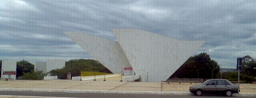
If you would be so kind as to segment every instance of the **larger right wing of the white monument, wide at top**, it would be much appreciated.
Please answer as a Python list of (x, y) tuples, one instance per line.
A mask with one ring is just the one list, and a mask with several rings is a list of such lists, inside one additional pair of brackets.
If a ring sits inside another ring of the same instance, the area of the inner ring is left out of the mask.
[(113, 29), (141, 81), (167, 80), (205, 41), (182, 41), (137, 29)]

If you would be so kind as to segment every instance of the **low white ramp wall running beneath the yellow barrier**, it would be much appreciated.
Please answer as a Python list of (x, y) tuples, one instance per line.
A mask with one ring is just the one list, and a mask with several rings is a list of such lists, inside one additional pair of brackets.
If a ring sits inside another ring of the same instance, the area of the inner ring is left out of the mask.
[[(105, 78), (120, 76), (120, 74), (105, 75)], [(95, 79), (104, 78), (104, 75), (97, 75)], [(72, 80), (80, 80), (81, 76), (72, 76)], [(93, 80), (94, 76), (82, 76), (82, 80)]]

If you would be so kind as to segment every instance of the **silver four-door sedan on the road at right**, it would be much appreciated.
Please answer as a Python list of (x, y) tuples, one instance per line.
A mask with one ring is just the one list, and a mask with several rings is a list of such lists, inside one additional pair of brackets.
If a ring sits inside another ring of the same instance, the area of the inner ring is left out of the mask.
[(238, 93), (238, 88), (238, 85), (226, 79), (209, 79), (200, 85), (190, 86), (189, 91), (198, 96), (203, 94), (223, 94), (232, 96), (233, 93)]

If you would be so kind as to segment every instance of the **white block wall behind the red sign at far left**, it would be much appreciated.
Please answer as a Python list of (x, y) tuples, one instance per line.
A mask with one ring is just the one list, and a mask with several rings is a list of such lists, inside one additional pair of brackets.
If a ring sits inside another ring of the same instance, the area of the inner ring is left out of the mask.
[(16, 79), (16, 66), (17, 61), (16, 60), (2, 60), (2, 72), (4, 71), (12, 71), (15, 72), (15, 75), (1, 75), (1, 78), (13, 78)]

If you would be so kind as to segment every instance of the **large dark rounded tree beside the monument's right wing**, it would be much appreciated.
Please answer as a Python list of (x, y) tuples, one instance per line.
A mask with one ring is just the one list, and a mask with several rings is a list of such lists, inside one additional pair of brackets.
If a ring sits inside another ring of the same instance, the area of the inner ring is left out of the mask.
[(211, 60), (209, 54), (200, 53), (193, 57), (189, 57), (189, 59), (184, 64), (182, 64), (181, 67), (176, 72), (174, 72), (170, 78), (211, 79), (212, 70), (213, 78), (216, 78), (219, 73), (219, 69), (220, 67), (218, 63), (214, 60)]

